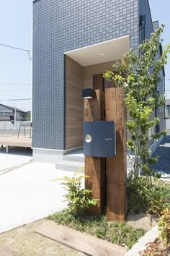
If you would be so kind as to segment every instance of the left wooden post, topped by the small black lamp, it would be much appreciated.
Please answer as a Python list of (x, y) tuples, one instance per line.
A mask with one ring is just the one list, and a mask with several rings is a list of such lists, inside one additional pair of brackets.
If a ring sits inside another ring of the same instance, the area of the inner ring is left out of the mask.
[[(104, 93), (96, 91), (96, 98), (84, 100), (84, 121), (104, 120)], [(105, 158), (85, 156), (85, 188), (92, 190), (93, 198), (98, 200), (97, 206), (87, 210), (91, 215), (100, 215), (105, 203)]]

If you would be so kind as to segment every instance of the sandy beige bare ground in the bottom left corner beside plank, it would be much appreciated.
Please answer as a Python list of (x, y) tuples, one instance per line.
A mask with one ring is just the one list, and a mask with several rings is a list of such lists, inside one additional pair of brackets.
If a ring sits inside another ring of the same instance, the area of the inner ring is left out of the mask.
[(44, 220), (22, 226), (12, 231), (0, 234), (0, 246), (10, 249), (19, 256), (79, 256), (76, 252), (50, 239), (34, 233), (35, 228)]

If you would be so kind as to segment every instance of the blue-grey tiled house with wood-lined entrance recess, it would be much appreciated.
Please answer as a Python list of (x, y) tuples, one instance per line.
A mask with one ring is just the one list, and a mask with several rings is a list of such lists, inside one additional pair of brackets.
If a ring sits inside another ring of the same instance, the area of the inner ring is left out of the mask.
[[(82, 146), (82, 88), (112, 87), (102, 73), (150, 38), (157, 26), (148, 0), (33, 1), (35, 160), (56, 162), (58, 155)], [(164, 78), (164, 70), (160, 76)], [(158, 85), (162, 92), (164, 79)], [(151, 133), (164, 129), (164, 111), (157, 109), (155, 116), (161, 122)]]

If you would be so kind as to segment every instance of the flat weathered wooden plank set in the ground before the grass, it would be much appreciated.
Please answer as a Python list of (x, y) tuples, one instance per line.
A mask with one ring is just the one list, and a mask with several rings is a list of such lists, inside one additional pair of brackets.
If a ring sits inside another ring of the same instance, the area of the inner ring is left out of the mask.
[(91, 256), (122, 256), (127, 252), (126, 247), (69, 229), (53, 221), (46, 221), (35, 229), (35, 233)]

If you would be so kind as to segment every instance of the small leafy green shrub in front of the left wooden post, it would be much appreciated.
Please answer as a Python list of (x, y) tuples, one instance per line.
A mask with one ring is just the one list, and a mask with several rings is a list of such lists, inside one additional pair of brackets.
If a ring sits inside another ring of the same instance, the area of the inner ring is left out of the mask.
[(97, 199), (93, 199), (91, 196), (91, 190), (81, 188), (81, 180), (88, 178), (88, 176), (79, 175), (79, 171), (73, 175), (73, 177), (63, 176), (62, 179), (54, 179), (63, 181), (61, 184), (68, 192), (64, 197), (68, 201), (69, 213), (80, 214), (91, 205), (97, 205)]

